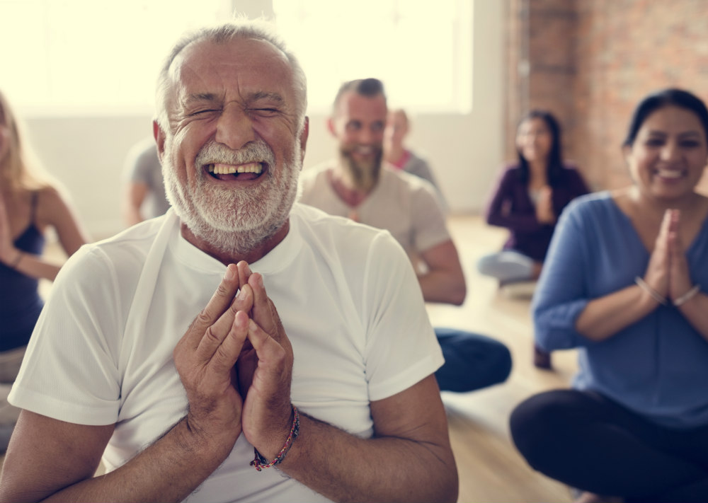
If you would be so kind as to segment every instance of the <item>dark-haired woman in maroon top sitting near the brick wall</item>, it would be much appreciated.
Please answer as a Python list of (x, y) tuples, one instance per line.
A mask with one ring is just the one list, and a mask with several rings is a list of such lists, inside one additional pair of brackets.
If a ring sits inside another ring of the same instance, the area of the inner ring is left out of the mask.
[[(580, 173), (563, 161), (561, 129), (545, 110), (532, 110), (516, 133), (518, 163), (507, 166), (487, 209), (487, 224), (506, 227), (503, 250), (482, 257), (481, 274), (500, 285), (539, 277), (556, 221), (566, 204), (587, 194)], [(536, 349), (536, 366), (550, 368), (550, 355)]]

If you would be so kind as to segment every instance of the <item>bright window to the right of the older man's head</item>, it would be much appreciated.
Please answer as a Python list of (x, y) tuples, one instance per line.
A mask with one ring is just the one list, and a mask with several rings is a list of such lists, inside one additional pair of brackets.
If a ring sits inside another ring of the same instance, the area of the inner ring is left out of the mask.
[(344, 81), (376, 77), (392, 105), (468, 112), (472, 0), (273, 0), (278, 31), (297, 54), (309, 108), (329, 110)]

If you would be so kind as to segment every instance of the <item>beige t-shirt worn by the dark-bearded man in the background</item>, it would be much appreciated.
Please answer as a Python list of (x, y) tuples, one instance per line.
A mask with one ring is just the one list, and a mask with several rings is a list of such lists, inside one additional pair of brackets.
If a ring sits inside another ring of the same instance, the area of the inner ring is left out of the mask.
[[(352, 211), (332, 188), (327, 175), (333, 162), (304, 170), (300, 175), (300, 202), (331, 215)], [(358, 221), (387, 229), (411, 258), (450, 239), (445, 211), (428, 180), (382, 166), (379, 181), (356, 207)]]

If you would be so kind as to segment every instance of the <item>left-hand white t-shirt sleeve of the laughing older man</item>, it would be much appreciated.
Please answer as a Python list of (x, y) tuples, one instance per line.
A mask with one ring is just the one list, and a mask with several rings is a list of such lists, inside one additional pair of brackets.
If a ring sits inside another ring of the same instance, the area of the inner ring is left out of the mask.
[(76, 424), (115, 423), (122, 333), (116, 284), (100, 250), (84, 247), (72, 255), (35, 325), (9, 395), (12, 405)]

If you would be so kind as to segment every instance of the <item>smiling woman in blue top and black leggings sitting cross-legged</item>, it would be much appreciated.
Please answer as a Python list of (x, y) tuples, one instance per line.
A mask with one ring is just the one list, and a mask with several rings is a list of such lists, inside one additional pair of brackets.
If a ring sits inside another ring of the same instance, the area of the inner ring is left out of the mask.
[(532, 313), (537, 344), (577, 347), (573, 389), (532, 396), (510, 426), (530, 465), (625, 501), (708, 501), (708, 110), (666, 89), (624, 141), (634, 185), (561, 216)]

